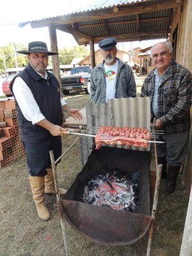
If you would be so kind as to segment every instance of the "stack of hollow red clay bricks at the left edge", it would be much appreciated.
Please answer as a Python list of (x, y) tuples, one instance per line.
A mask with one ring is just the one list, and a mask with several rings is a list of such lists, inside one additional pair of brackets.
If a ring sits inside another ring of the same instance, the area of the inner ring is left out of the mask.
[(0, 101), (0, 168), (24, 154), (15, 100)]

